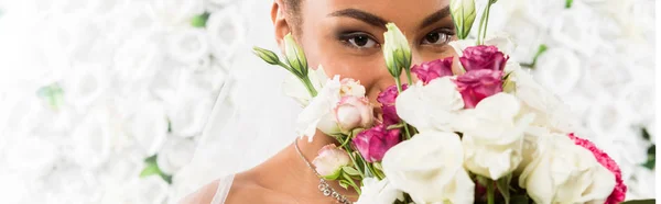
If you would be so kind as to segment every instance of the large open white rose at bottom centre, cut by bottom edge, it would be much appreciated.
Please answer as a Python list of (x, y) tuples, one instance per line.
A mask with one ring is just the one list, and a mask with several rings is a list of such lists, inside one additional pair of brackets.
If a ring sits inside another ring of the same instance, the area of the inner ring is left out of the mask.
[(392, 186), (415, 203), (473, 203), (475, 184), (454, 133), (422, 132), (388, 150), (382, 166)]

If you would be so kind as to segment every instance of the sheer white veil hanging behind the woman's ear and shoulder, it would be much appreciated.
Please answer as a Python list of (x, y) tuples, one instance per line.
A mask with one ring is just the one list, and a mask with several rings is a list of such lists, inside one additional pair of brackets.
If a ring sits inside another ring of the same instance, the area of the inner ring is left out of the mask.
[(291, 73), (252, 54), (252, 46), (280, 53), (269, 16), (271, 4), (252, 2), (241, 8), (245, 43), (234, 50), (229, 72), (193, 159), (174, 178), (175, 183), (185, 183), (178, 188), (182, 193), (259, 165), (296, 137), (294, 120), (301, 107), (281, 91)]

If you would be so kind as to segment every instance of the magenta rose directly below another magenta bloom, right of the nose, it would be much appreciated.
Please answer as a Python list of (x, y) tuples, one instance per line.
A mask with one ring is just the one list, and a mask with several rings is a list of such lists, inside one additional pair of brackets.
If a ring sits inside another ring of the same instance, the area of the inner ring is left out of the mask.
[(502, 92), (502, 71), (479, 69), (468, 71), (454, 81), (464, 99), (464, 107), (473, 109), (483, 99)]

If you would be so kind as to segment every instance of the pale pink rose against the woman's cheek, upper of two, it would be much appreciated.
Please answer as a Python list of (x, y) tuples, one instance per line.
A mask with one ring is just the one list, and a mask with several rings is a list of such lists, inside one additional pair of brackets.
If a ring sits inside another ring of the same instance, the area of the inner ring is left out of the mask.
[(365, 97), (344, 97), (334, 110), (340, 131), (348, 133), (355, 128), (367, 128), (373, 122), (373, 109)]

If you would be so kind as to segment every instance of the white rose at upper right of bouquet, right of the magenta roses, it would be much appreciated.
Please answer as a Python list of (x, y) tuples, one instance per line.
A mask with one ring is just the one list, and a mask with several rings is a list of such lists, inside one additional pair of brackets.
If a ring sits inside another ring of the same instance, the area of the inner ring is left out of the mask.
[(520, 67), (513, 67), (506, 83), (513, 83), (513, 89), (506, 91), (521, 101), (521, 109), (535, 114), (533, 125), (550, 127), (555, 133), (574, 132), (576, 125), (572, 121), (574, 117), (571, 116), (570, 109), (537, 83), (530, 73)]

